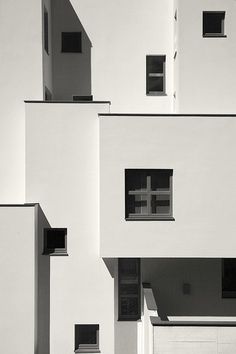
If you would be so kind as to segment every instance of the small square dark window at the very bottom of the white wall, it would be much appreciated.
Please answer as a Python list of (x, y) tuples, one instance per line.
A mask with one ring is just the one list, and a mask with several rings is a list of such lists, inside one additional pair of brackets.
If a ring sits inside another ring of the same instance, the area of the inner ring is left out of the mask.
[(75, 325), (75, 353), (100, 353), (99, 325)]

